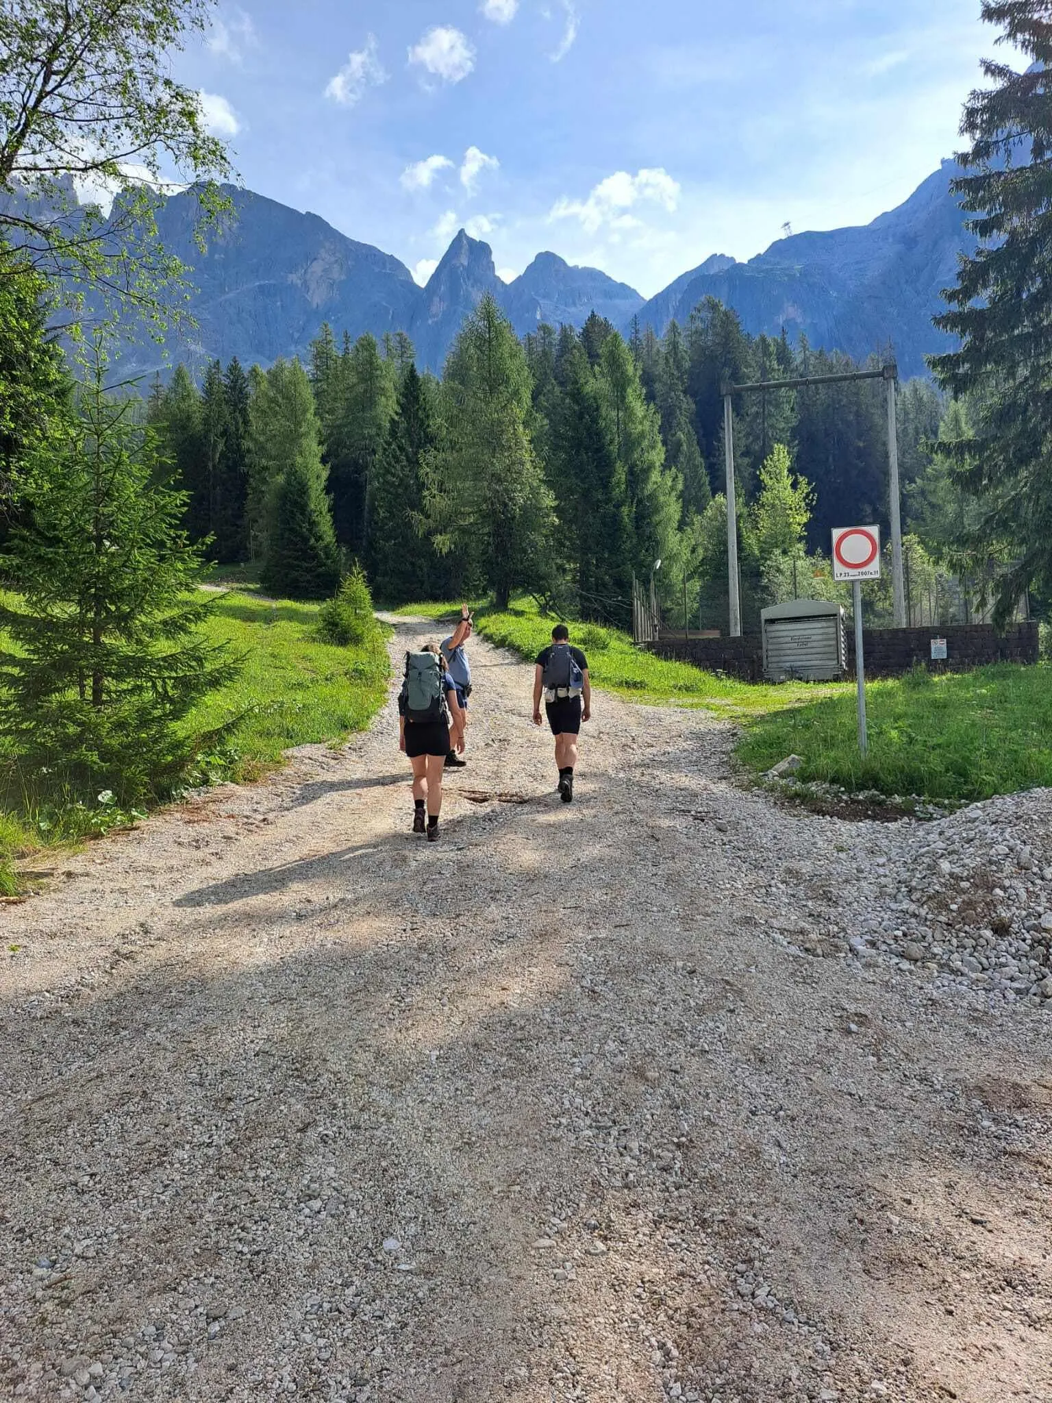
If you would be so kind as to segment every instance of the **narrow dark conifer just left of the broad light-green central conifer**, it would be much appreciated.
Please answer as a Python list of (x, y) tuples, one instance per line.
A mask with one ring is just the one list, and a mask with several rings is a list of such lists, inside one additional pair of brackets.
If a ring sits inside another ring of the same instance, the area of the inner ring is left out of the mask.
[(373, 480), (369, 572), (377, 599), (387, 603), (436, 593), (433, 550), (417, 526), (424, 511), (424, 462), (433, 448), (429, 391), (410, 363)]

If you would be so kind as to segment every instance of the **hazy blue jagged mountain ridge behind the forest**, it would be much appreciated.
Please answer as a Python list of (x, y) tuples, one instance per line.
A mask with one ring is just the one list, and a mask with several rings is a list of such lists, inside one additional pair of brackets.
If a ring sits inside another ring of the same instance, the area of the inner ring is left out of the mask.
[(122, 370), (167, 373), (180, 359), (199, 370), (233, 355), (264, 366), (278, 356), (306, 358), (324, 321), (352, 340), (407, 331), (421, 366), (439, 370), (464, 317), (491, 292), (519, 335), (541, 321), (579, 327), (592, 310), (626, 333), (637, 317), (662, 333), (672, 317), (686, 321), (703, 297), (715, 296), (753, 334), (777, 335), (784, 327), (793, 340), (802, 333), (814, 347), (860, 358), (893, 345), (903, 375), (922, 375), (924, 355), (945, 345), (931, 325), (940, 290), (954, 281), (958, 254), (973, 247), (950, 194), (955, 170), (943, 163), (905, 203), (870, 224), (794, 234), (749, 262), (715, 254), (649, 302), (554, 253), (539, 254), (505, 283), (490, 246), (463, 230), (419, 288), (397, 258), (320, 216), (234, 188), (236, 217), (202, 255), (194, 243), (196, 202), (184, 192), (161, 202), (157, 222), (166, 246), (192, 269), (198, 327), (170, 337), (164, 348), (136, 337)]

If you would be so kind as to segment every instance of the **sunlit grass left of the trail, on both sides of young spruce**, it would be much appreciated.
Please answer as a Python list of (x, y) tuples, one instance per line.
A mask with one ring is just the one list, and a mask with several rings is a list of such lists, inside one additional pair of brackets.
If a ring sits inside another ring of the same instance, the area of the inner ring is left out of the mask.
[[(318, 605), (259, 599), (230, 592), (215, 599), (206, 634), (243, 657), (240, 675), (206, 697), (188, 717), (194, 732), (238, 717), (223, 748), (201, 759), (194, 780), (254, 779), (281, 762), (282, 752), (309, 742), (335, 742), (365, 730), (383, 703), (389, 661), (384, 634), (360, 648), (341, 648), (316, 636)], [(0, 760), (3, 753), (0, 752)], [(11, 779), (0, 808), (0, 895), (14, 890), (11, 861), (56, 843), (107, 832), (123, 815), (109, 804), (88, 808)]]

